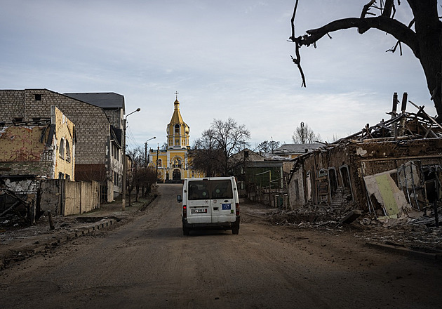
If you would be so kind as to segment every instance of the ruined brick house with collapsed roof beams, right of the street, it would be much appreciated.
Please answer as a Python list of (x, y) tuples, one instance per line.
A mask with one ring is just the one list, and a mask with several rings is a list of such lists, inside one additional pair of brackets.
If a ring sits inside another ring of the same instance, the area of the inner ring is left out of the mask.
[(401, 112), (397, 104), (395, 93), (391, 119), (293, 159), (290, 209), (323, 204), (400, 218), (440, 198), (442, 126), (424, 107), (406, 112), (406, 93)]

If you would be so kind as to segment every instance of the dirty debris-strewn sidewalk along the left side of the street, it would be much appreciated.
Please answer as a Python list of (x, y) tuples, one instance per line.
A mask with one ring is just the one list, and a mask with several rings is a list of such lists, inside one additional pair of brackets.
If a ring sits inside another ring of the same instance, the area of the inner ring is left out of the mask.
[[(141, 213), (154, 200), (154, 196), (140, 198), (122, 210), (121, 197), (100, 209), (71, 216), (54, 216), (55, 229), (51, 230), (48, 216), (42, 216), (35, 225), (25, 228), (0, 228), (0, 270), (9, 263), (22, 261), (34, 254), (87, 235), (97, 230), (109, 228), (118, 222), (127, 222)], [(135, 201), (135, 198), (132, 199)]]

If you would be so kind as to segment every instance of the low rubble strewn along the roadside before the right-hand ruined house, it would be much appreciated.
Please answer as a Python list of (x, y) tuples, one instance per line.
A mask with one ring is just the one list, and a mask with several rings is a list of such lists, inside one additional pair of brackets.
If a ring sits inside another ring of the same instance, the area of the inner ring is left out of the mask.
[[(433, 209), (426, 209), (419, 218), (400, 219), (379, 217), (375, 213), (362, 213), (351, 224), (340, 224), (342, 218), (354, 209), (334, 209), (328, 205), (309, 205), (302, 209), (275, 209), (267, 213), (273, 225), (287, 225), (293, 228), (353, 232), (354, 237), (366, 242), (376, 242), (423, 251), (442, 252), (442, 227), (436, 227)], [(438, 220), (442, 221), (442, 206), (437, 210)], [(379, 219), (379, 220), (378, 220)]]

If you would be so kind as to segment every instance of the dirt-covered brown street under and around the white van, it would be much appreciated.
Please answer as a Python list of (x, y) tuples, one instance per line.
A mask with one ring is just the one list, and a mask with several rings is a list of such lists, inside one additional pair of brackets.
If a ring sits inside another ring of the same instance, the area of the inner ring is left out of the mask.
[(441, 308), (440, 263), (250, 216), (183, 236), (181, 185), (135, 220), (0, 272), (0, 308)]

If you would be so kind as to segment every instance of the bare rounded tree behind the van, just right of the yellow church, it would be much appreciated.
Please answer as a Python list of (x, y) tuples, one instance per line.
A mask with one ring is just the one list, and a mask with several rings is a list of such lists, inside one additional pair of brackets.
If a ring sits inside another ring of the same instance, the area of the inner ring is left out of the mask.
[(203, 131), (195, 143), (192, 152), (194, 168), (206, 171), (208, 176), (229, 174), (229, 157), (243, 150), (248, 145), (250, 131), (243, 124), (239, 125), (234, 119), (227, 121), (214, 119), (210, 128)]

